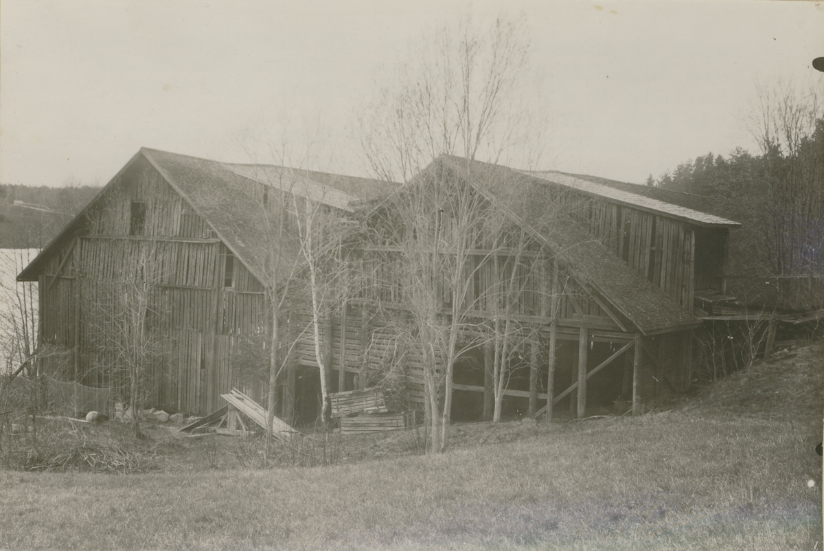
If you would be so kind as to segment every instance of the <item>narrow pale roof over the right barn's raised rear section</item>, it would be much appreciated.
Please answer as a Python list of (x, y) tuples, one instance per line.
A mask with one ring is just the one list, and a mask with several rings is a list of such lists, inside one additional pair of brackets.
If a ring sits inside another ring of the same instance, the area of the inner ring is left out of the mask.
[[(652, 193), (639, 193), (641, 187), (652, 186), (637, 186), (635, 184), (627, 184), (625, 182), (610, 181), (603, 178), (578, 176), (574, 174), (566, 174), (564, 172), (553, 171), (532, 171), (527, 172), (532, 176), (539, 177), (545, 181), (551, 181), (559, 186), (582, 192), (583, 194), (606, 199), (612, 203), (630, 206), (634, 209), (645, 210), (655, 214), (661, 214), (673, 219), (679, 219), (689, 224), (707, 228), (738, 228), (741, 226), (738, 222), (725, 219), (714, 214), (695, 210), (685, 204), (689, 201), (688, 197), (675, 197), (674, 194), (669, 194), (667, 199), (663, 199), (660, 195), (653, 196)], [(682, 194), (690, 195), (690, 194)], [(698, 198), (695, 195), (695, 198)], [(695, 205), (700, 200), (691, 200), (691, 204)]]

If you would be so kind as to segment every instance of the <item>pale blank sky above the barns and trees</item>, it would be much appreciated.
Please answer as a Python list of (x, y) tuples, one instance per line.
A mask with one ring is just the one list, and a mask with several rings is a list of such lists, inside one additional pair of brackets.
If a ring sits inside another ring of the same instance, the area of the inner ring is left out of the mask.
[(640, 183), (752, 148), (756, 82), (824, 87), (824, 2), (3, 0), (0, 181), (102, 185), (141, 146), (251, 162), (283, 114), (320, 121), (327, 169), (365, 175), (355, 113), (469, 12), (527, 17), (545, 169)]

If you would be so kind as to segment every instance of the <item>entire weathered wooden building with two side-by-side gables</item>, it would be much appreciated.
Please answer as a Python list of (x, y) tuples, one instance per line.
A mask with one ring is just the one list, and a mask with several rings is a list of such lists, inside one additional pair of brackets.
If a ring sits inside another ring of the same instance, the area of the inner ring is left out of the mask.
[[(701, 324), (692, 312), (695, 290), (719, 285), (725, 239), (736, 223), (588, 177), (446, 156), (410, 185), (427, 172), (462, 179), (530, 236), (528, 261), (518, 267), (525, 283), (511, 315), (538, 337), (505, 390), (510, 412), (540, 413), (548, 398), (574, 415), (616, 400), (640, 411), (686, 389), (691, 336)], [(295, 177), (304, 200), (362, 222), (361, 201), (396, 190), (362, 178), (141, 149), (18, 276), (40, 283), (40, 342), (62, 346), (71, 376), (83, 384), (111, 384), (113, 360), (98, 346), (88, 306), (105, 303), (101, 282), (118, 277), (151, 244), (171, 353), (153, 368), (148, 402), (204, 414), (237, 387), (263, 403), (265, 378), (247, 377), (236, 361), (244, 341), (270, 331), (271, 247), (256, 213), (267, 212), (269, 194)], [(295, 246), (284, 247), (286, 257), (297, 258)], [(415, 407), (423, 401), (422, 360), (404, 350), (387, 322), (387, 311), (402, 315), (403, 298), (391, 285), (392, 267), (381, 264), (386, 257), (373, 252), (359, 257), (363, 277), (352, 296), (323, 321), (327, 380), (332, 392), (363, 388), (386, 380), (391, 364), (406, 405)], [(479, 250), (477, 261), (484, 258), (488, 253)], [(492, 308), (475, 299), (494, 275), (488, 268), (472, 273), (474, 315), (483, 320)], [(306, 307), (289, 314), (287, 341), (297, 344), (279, 390), (287, 421), (311, 421), (317, 410), (314, 342), (299, 329), (309, 318)], [(481, 346), (456, 365), (455, 418), (489, 413), (485, 355)]]

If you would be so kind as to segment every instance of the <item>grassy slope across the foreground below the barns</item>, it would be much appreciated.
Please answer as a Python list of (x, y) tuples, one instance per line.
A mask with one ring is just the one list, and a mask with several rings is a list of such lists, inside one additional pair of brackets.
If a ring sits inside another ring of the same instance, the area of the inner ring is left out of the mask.
[(822, 358), (639, 418), (457, 426), (436, 457), (0, 473), (0, 549), (822, 549)]

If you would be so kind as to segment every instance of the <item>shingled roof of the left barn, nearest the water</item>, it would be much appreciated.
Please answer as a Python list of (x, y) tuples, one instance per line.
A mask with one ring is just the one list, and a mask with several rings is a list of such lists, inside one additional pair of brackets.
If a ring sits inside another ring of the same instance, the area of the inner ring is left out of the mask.
[[(259, 185), (279, 186), (295, 195), (320, 201), (340, 210), (352, 210), (350, 203), (380, 190), (391, 189), (390, 182), (369, 181), (324, 172), (311, 172), (274, 165), (244, 165), (141, 148), (95, 196), (91, 202), (40, 252), (17, 276), (17, 280), (35, 280), (45, 258), (56, 244), (71, 238), (82, 220), (119, 177), (140, 158), (145, 158), (169, 185), (203, 218), (218, 238), (259, 280), (264, 280), (269, 243), (260, 204), (253, 191)], [(298, 243), (281, 244), (284, 257), (295, 259)], [(288, 262), (287, 262), (288, 264)]]

